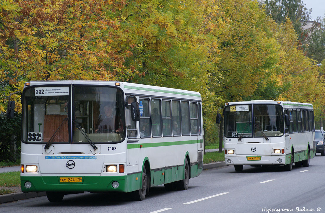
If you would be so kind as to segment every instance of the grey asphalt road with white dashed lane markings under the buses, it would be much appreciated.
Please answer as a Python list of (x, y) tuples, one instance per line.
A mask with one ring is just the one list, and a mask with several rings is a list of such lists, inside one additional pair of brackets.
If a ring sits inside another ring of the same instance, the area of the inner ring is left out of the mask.
[(127, 194), (72, 194), (61, 203), (46, 196), (1, 204), (0, 212), (325, 212), (325, 157), (310, 160), (309, 167), (284, 171), (282, 167), (233, 166), (205, 170), (190, 179), (187, 191), (150, 189), (144, 201)]

